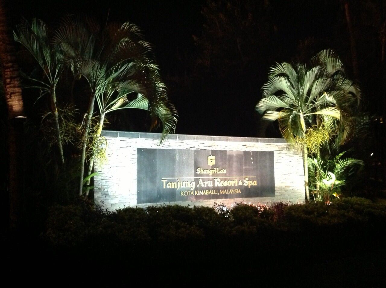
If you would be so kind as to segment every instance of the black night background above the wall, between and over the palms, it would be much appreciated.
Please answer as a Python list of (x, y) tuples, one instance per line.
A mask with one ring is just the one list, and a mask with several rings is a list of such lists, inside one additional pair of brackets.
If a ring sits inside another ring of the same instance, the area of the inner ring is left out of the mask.
[[(10, 7), (10, 18), (15, 25), (22, 16), (38, 17), (50, 27), (66, 13), (93, 15), (102, 24), (107, 20), (133, 22), (154, 46), (169, 99), (179, 111), (176, 133), (281, 137), (277, 125), (266, 129), (254, 111), (269, 67), (275, 62), (306, 61), (318, 51), (331, 48), (353, 78), (345, 1), (231, 2), (239, 9), (237, 17), (227, 10), (224, 1), (213, 2), (217, 8), (211, 9), (212, 2), (205, 0), (17, 0)], [(362, 106), (372, 116), (383, 115), (384, 69), (379, 17), (375, 14), (384, 13), (384, 1), (349, 3), (359, 59), (357, 81), (364, 92)], [(238, 40), (244, 62), (237, 52)], [(209, 64), (202, 61), (204, 56), (210, 57)], [(110, 117), (111, 125), (106, 129), (149, 128), (146, 113), (120, 111)]]

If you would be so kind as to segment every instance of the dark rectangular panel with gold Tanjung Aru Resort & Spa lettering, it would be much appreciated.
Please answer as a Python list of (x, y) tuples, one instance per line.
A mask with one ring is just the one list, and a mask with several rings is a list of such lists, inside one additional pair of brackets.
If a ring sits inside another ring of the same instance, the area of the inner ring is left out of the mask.
[(137, 203), (274, 196), (272, 151), (137, 148)]

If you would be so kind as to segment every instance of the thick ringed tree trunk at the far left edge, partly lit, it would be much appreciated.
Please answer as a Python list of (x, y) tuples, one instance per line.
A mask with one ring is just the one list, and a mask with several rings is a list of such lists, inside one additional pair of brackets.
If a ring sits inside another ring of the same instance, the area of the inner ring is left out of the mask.
[[(22, 89), (20, 86), (19, 68), (14, 55), (14, 45), (7, 25), (5, 1), (0, 0), (0, 61), (8, 110), (8, 153), (9, 180), (8, 193), (10, 202), (10, 228), (16, 229), (20, 214), (20, 197), (22, 195), (22, 120), (24, 116)], [(21, 149), (20, 149), (21, 148)]]

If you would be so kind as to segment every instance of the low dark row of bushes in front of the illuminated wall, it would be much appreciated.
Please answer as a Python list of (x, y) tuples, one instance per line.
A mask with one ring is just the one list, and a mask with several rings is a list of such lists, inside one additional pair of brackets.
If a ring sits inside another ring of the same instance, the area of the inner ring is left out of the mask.
[[(105, 212), (80, 202), (50, 209), (46, 237), (54, 247), (93, 247), (101, 253), (117, 253), (124, 246), (125, 251), (121, 252), (130, 254), (138, 247), (157, 251), (186, 251), (186, 247), (223, 249), (238, 239), (243, 239), (245, 244), (251, 241), (251, 244), (269, 245), (270, 237), (276, 237), (275, 241), (289, 241), (286, 237), (291, 231), (296, 232), (296, 239), (308, 239), (313, 233), (325, 231), (330, 235), (322, 236), (323, 240), (337, 237), (336, 241), (348, 243), (350, 238), (344, 233), (352, 227), (366, 227), (371, 221), (373, 226), (367, 231), (375, 233), (386, 223), (385, 205), (362, 198), (336, 199), (330, 205), (279, 202), (267, 207), (237, 203), (229, 209), (229, 215), (223, 217), (216, 208), (179, 205)], [(317, 239), (313, 241), (322, 243)]]

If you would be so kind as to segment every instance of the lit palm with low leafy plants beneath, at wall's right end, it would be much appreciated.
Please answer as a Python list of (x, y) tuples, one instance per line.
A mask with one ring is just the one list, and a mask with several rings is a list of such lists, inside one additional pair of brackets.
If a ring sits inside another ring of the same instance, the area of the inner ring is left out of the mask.
[[(322, 168), (321, 161), (325, 155), (323, 148), (330, 150), (331, 146), (337, 151), (339, 145), (359, 131), (359, 123), (363, 123), (356, 116), (360, 100), (361, 89), (345, 76), (343, 63), (332, 50), (319, 52), (307, 64), (284, 62), (271, 68), (256, 111), (263, 119), (278, 120), (279, 129), (289, 143), (303, 144), (296, 147), (303, 147), (307, 199), (307, 182), (314, 190), (314, 200), (315, 193), (318, 200), (338, 197), (339, 186), (346, 180), (343, 170), (362, 163), (353, 158), (339, 160), (337, 155), (338, 158), (328, 160), (327, 167)], [(308, 153), (314, 158), (307, 161)]]

